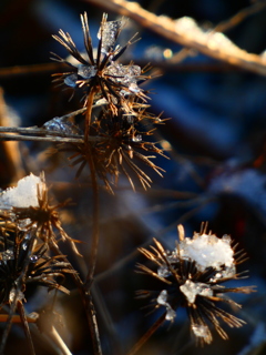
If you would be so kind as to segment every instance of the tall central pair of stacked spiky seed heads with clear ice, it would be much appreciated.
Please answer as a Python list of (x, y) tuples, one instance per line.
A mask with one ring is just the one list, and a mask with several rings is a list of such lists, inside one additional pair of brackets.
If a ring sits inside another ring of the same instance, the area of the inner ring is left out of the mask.
[[(82, 91), (83, 105), (86, 108), (84, 144), (64, 144), (59, 150), (72, 152), (71, 165), (79, 165), (76, 176), (89, 165), (91, 173), (94, 170), (111, 193), (121, 173), (133, 189), (134, 175), (146, 189), (151, 186), (152, 179), (143, 166), (149, 166), (160, 175), (163, 172), (152, 161), (156, 154), (164, 155), (162, 149), (151, 139), (146, 140), (153, 134), (154, 124), (163, 120), (146, 112), (147, 92), (140, 88), (140, 83), (149, 79), (143, 73), (145, 69), (132, 62), (125, 65), (119, 61), (135, 36), (123, 47), (116, 44), (125, 21), (108, 21), (108, 16), (103, 14), (95, 53), (86, 13), (81, 16), (81, 22), (84, 54), (79, 52), (69, 33), (60, 30), (59, 36), (53, 36), (72, 58), (62, 59), (53, 53), (54, 60), (69, 68), (69, 71), (55, 74), (55, 81), (74, 91)], [(102, 109), (94, 115), (93, 105), (99, 103), (102, 103)]]

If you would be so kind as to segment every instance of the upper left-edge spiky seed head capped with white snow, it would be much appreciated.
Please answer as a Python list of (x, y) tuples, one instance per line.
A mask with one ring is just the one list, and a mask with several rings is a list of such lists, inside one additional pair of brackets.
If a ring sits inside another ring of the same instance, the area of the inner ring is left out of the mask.
[(55, 232), (63, 241), (69, 241), (73, 251), (79, 254), (74, 241), (63, 230), (59, 209), (69, 201), (51, 205), (44, 173), (35, 176), (32, 173), (18, 181), (17, 187), (7, 189), (0, 194), (0, 214), (6, 223), (14, 223), (21, 231), (33, 229), (40, 240), (50, 246), (58, 245)]

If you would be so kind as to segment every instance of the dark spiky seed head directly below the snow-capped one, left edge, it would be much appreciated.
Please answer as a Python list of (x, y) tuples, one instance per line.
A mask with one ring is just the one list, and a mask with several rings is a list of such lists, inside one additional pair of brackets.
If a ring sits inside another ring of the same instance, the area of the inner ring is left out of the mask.
[(1, 239), (3, 245), (0, 252), (0, 307), (12, 303), (16, 293), (18, 300), (23, 301), (29, 283), (45, 286), (49, 291), (57, 288), (69, 293), (57, 278), (63, 281), (64, 274), (72, 271), (58, 257), (49, 256), (45, 244), (34, 246), (35, 236), (21, 231), (14, 239), (7, 235)]

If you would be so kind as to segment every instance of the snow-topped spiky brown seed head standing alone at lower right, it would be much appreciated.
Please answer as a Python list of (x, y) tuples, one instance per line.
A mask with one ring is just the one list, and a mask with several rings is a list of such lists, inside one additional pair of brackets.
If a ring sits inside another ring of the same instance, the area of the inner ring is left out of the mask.
[(227, 303), (241, 307), (225, 294), (254, 292), (253, 286), (224, 286), (226, 281), (241, 278), (236, 273), (236, 264), (243, 262), (245, 256), (244, 253), (235, 253), (228, 235), (218, 239), (211, 233), (195, 233), (193, 239), (181, 237), (173, 252), (166, 251), (156, 240), (154, 243), (152, 251), (140, 248), (140, 252), (154, 262), (157, 270), (152, 271), (140, 264), (139, 271), (158, 280), (162, 287), (139, 291), (139, 297), (152, 297), (155, 308), (165, 308), (167, 321), (174, 321), (180, 306), (185, 307), (191, 329), (201, 345), (209, 344), (213, 339), (209, 323), (224, 339), (228, 336), (219, 320), (231, 327), (245, 324), (218, 306), (219, 303)]

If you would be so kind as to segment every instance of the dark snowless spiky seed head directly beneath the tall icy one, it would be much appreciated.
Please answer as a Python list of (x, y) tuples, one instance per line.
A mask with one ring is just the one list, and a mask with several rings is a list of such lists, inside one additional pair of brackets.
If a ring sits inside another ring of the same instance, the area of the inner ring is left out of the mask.
[(153, 130), (141, 131), (146, 121), (162, 122), (142, 109), (132, 111), (131, 114), (120, 111), (117, 115), (113, 115), (110, 111), (102, 111), (91, 126), (91, 136), (94, 136), (95, 141), (91, 142), (90, 151), (85, 144), (64, 144), (59, 149), (73, 152), (70, 160), (72, 165), (80, 164), (78, 176), (86, 165), (88, 154), (92, 154), (98, 176), (111, 193), (112, 184), (117, 183), (121, 173), (127, 178), (133, 190), (135, 186), (132, 174), (146, 189), (151, 186), (152, 180), (142, 170), (142, 165), (147, 165), (162, 175), (164, 170), (152, 162), (156, 156), (150, 154), (165, 156), (162, 149), (146, 140), (146, 136), (153, 134)]

